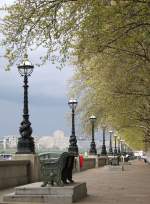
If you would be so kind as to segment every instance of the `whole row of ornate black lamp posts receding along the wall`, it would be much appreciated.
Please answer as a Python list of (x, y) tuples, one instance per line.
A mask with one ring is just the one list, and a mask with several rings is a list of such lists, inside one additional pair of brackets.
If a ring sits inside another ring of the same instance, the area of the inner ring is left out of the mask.
[[(32, 135), (32, 128), (31, 123), (29, 121), (29, 110), (28, 110), (28, 77), (31, 76), (33, 72), (34, 66), (28, 60), (28, 55), (25, 54), (22, 64), (18, 65), (18, 71), (20, 75), (24, 78), (24, 107), (23, 107), (23, 120), (21, 122), (19, 132), (21, 137), (18, 139), (17, 144), (17, 154), (34, 154), (35, 153), (35, 145), (34, 139)], [(78, 155), (79, 150), (77, 146), (77, 139), (75, 135), (75, 110), (77, 107), (77, 100), (70, 99), (68, 101), (68, 105), (72, 110), (72, 131), (69, 139), (69, 148), (68, 151), (73, 153), (74, 155)], [(94, 126), (96, 117), (94, 115), (90, 116), (90, 121), (92, 125), (92, 140), (90, 144), (89, 154), (96, 155), (96, 144), (94, 138)], [(103, 127), (103, 144), (102, 144), (102, 151), (101, 155), (107, 155), (106, 145), (105, 145), (105, 131), (106, 127)], [(112, 148), (112, 131), (109, 131), (110, 134), (110, 142), (109, 142), (109, 155), (113, 155), (113, 148)], [(117, 151), (117, 136), (114, 135), (115, 138), (115, 148), (114, 148), (114, 155), (120, 154), (121, 152), (126, 151), (125, 147), (123, 146), (123, 140), (118, 140), (118, 151)], [(121, 146), (121, 150), (120, 150)]]

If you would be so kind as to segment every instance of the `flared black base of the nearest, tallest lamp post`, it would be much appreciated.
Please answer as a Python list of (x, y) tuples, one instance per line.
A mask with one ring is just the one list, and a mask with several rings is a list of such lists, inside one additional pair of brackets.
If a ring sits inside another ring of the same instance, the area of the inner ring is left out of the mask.
[(35, 146), (33, 137), (18, 139), (17, 152), (16, 154), (34, 154)]

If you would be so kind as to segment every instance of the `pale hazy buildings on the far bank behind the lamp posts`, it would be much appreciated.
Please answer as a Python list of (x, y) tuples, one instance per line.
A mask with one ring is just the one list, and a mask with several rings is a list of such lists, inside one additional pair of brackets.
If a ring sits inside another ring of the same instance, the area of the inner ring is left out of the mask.
[[(0, 150), (17, 149), (17, 142), (20, 136), (10, 135), (0, 139)], [(70, 137), (66, 137), (62, 130), (55, 131), (49, 136), (32, 136), (34, 138), (36, 151), (52, 149), (64, 150), (69, 147)], [(101, 139), (101, 138), (100, 138)], [(102, 141), (95, 139), (97, 151), (101, 152)], [(81, 151), (88, 151), (90, 148), (91, 137), (77, 137), (77, 145)], [(109, 141), (106, 139), (106, 147), (109, 148)]]

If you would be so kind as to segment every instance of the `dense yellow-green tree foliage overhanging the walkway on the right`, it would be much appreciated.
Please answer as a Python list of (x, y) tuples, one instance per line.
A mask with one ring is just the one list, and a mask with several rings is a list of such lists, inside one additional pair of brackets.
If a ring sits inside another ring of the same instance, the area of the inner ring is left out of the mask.
[[(99, 125), (123, 129), (124, 135), (138, 131), (149, 143), (149, 4), (96, 6), (84, 19), (74, 51), (73, 89), (82, 100), (82, 121), (94, 113)], [(143, 139), (130, 135), (132, 145), (143, 147)]]

